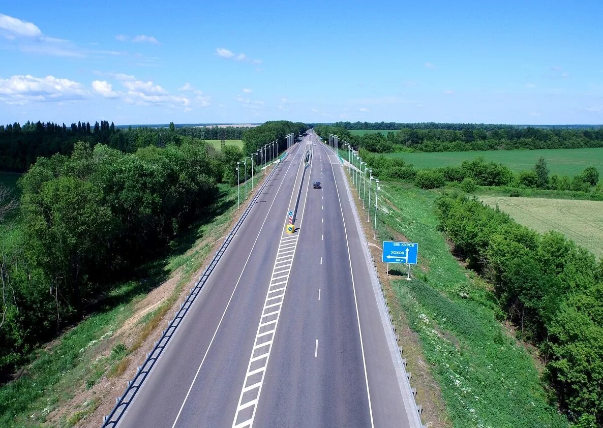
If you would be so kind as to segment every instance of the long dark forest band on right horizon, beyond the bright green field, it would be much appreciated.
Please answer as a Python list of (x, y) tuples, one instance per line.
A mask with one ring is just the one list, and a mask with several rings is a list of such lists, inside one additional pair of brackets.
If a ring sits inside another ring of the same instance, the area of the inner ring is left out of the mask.
[(315, 130), (323, 139), (328, 134), (336, 134), (340, 143), (346, 141), (356, 148), (376, 153), (603, 147), (603, 127), (575, 130), (470, 125), (456, 129), (455, 124), (434, 125), (442, 127), (405, 127), (387, 134), (366, 133), (361, 136), (331, 125), (317, 125)]

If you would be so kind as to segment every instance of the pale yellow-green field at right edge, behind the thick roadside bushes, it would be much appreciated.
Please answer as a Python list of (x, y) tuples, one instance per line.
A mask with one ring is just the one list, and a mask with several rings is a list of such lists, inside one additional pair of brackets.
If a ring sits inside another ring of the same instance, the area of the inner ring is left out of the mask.
[(538, 232), (557, 230), (603, 257), (603, 202), (548, 198), (480, 197)]

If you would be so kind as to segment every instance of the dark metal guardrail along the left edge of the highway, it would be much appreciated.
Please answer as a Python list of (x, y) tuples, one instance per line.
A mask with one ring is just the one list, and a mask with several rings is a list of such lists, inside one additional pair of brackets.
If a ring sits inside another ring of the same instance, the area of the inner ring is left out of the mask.
[(171, 337), (176, 332), (178, 326), (180, 326), (180, 323), (182, 323), (182, 319), (185, 317), (186, 313), (191, 308), (192, 304), (195, 301), (195, 298), (197, 298), (197, 296), (201, 292), (201, 288), (203, 288), (203, 286), (207, 282), (207, 279), (209, 279), (209, 275), (213, 272), (213, 269), (215, 269), (216, 265), (218, 265), (219, 260), (226, 251), (226, 248), (228, 248), (230, 242), (235, 237), (236, 232), (241, 227), (245, 218), (247, 218), (247, 215), (256, 203), (257, 198), (259, 198), (259, 195), (262, 193), (262, 190), (264, 190), (264, 187), (267, 185), (268, 180), (270, 180), (270, 178), (276, 171), (277, 166), (279, 166), (279, 164), (277, 164), (276, 167), (270, 172), (267, 179), (264, 181), (264, 184), (262, 184), (262, 187), (260, 187), (260, 189), (257, 191), (256, 195), (251, 200), (251, 203), (249, 204), (245, 212), (241, 215), (241, 218), (239, 218), (239, 221), (236, 222), (235, 226), (232, 228), (232, 230), (230, 230), (230, 233), (228, 234), (226, 239), (224, 239), (223, 244), (221, 245), (219, 250), (216, 251), (212, 261), (203, 272), (203, 275), (199, 277), (199, 280), (197, 281), (195, 286), (191, 288), (191, 292), (189, 293), (185, 302), (180, 304), (180, 309), (175, 312), (174, 318), (172, 318), (172, 320), (168, 322), (168, 328), (163, 330), (161, 338), (159, 339), (159, 341), (155, 342), (153, 350), (150, 353), (147, 353), (147, 359), (145, 359), (145, 362), (138, 367), (134, 379), (128, 380), (128, 386), (125, 389), (124, 393), (121, 395), (121, 397), (115, 398), (115, 406), (113, 406), (113, 409), (110, 414), (104, 417), (102, 425), (103, 428), (116, 427), (119, 423), (119, 420), (124, 415), (124, 412), (134, 399), (134, 395), (136, 395), (136, 392), (138, 392), (138, 390), (142, 386), (142, 383), (145, 381), (145, 379), (147, 379), (148, 374), (153, 369), (153, 366), (163, 353), (165, 347), (168, 345), (169, 339), (171, 339)]

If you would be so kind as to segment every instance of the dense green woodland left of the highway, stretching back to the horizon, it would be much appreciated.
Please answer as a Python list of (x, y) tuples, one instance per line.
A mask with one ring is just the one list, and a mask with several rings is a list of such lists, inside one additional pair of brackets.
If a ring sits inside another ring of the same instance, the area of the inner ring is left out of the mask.
[[(246, 156), (231, 145), (216, 151), (172, 126), (119, 131), (103, 122), (90, 133), (81, 124), (79, 130), (77, 125), (75, 130), (52, 124), (34, 128), (2, 132), (38, 133), (41, 138), (29, 139), (30, 146), (42, 142), (38, 147), (51, 151), (56, 142), (68, 154), (42, 151), (48, 156), (30, 159), (33, 153), (24, 151), (21, 159), (32, 165), (19, 181), (18, 208), (0, 189), (4, 379), (35, 347), (80, 320), (113, 284), (156, 256), (215, 203), (218, 183), (236, 184), (236, 163)], [(253, 128), (247, 142), (254, 147), (306, 129), (267, 122)], [(51, 145), (44, 144), (45, 136)], [(130, 137), (133, 145), (110, 145)], [(263, 137), (269, 139), (262, 142)], [(284, 139), (279, 143), (282, 148)], [(255, 167), (248, 162), (248, 168)]]

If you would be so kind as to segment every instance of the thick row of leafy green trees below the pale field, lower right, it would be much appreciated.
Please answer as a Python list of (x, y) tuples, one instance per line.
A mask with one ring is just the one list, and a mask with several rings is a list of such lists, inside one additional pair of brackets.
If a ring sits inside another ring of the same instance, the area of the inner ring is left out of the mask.
[(443, 195), (437, 215), (455, 251), (493, 285), (518, 338), (538, 347), (561, 408), (576, 426), (601, 426), (603, 261), (461, 195)]

